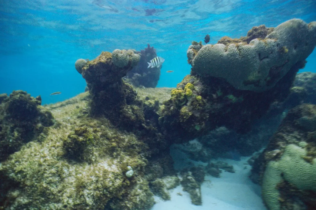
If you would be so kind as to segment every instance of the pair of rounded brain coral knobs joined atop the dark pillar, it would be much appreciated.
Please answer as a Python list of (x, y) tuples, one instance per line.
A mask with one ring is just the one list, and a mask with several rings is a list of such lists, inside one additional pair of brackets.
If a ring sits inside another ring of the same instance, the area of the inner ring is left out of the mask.
[(123, 68), (127, 66), (131, 61), (131, 67), (137, 65), (137, 62), (140, 60), (140, 55), (134, 54), (132, 50), (119, 50), (115, 49), (112, 52), (112, 62), (117, 67)]

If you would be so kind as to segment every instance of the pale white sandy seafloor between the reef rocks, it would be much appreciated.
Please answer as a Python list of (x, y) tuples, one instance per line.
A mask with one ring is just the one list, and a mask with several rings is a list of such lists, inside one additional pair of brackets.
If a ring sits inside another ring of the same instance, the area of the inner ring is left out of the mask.
[[(185, 156), (179, 150), (177, 154), (171, 153), (175, 168), (179, 168), (180, 162)], [(177, 157), (176, 157), (177, 156)], [(181, 185), (170, 190), (171, 200), (163, 201), (155, 196), (156, 204), (152, 210), (267, 210), (261, 198), (261, 188), (258, 184), (252, 183), (248, 178), (251, 166), (247, 160), (250, 157), (241, 157), (240, 161), (230, 159), (216, 159), (213, 162), (224, 161), (234, 166), (235, 173), (223, 171), (220, 178), (210, 175), (205, 176), (201, 186), (202, 206), (191, 204), (189, 193), (182, 190)], [(194, 162), (194, 165), (199, 163)], [(203, 163), (200, 163), (203, 164)], [(203, 164), (205, 165), (205, 164)], [(245, 168), (246, 166), (246, 168)], [(181, 193), (182, 196), (177, 195)]]

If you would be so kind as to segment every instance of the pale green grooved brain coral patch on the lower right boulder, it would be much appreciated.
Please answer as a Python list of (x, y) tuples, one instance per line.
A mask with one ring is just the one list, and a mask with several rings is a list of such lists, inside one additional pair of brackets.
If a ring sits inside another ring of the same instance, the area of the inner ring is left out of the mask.
[(270, 161), (264, 172), (262, 196), (269, 209), (281, 209), (277, 184), (285, 179), (300, 190), (316, 191), (316, 159), (309, 163), (303, 159), (307, 151), (290, 144), (279, 161)]

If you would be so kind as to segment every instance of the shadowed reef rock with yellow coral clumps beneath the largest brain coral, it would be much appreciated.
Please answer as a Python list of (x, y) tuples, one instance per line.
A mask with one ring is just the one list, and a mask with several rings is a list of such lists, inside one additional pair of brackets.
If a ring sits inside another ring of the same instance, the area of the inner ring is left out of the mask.
[(191, 71), (172, 90), (171, 99), (163, 103), (159, 122), (174, 143), (206, 135), (221, 126), (237, 133), (249, 132), (272, 103), (287, 98), (296, 72), (304, 64), (305, 61), (294, 65), (273, 88), (264, 92), (238, 90), (224, 79), (201, 77)]

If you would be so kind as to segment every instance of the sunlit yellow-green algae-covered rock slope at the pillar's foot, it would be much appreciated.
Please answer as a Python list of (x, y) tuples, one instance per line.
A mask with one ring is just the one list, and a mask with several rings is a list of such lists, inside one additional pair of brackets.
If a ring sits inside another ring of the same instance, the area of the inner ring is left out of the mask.
[[(148, 146), (105, 118), (90, 118), (83, 93), (47, 105), (57, 123), (0, 164), (1, 205), (11, 209), (150, 209)], [(125, 173), (131, 166), (134, 175)], [(9, 186), (9, 187), (8, 187)]]

